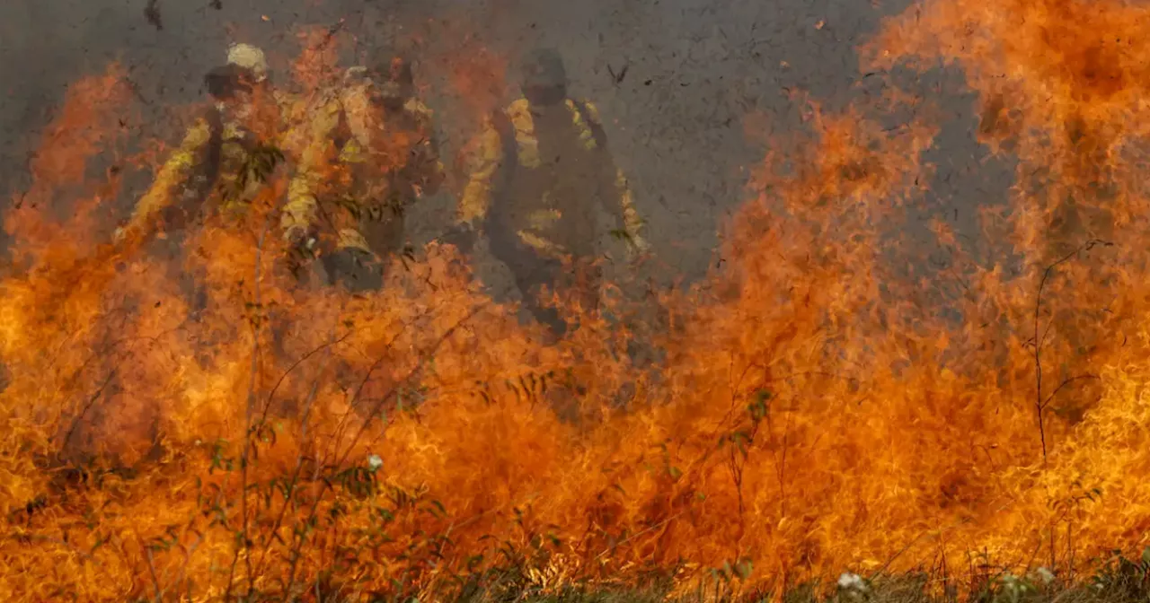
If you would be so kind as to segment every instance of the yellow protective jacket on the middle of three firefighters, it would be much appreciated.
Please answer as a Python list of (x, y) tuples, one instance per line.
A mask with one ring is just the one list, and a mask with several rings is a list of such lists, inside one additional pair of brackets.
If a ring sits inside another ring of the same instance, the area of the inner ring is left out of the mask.
[(288, 187), (288, 238), (335, 235), (335, 248), (385, 254), (402, 237), (402, 210), (444, 178), (432, 111), (411, 99), (383, 116), (365, 86), (329, 94), (310, 119), (309, 142)]

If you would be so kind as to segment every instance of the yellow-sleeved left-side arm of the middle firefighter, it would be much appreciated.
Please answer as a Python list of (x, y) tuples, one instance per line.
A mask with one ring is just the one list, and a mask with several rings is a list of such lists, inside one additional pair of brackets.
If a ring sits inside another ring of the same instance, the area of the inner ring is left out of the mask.
[(332, 157), (332, 139), (339, 125), (338, 101), (325, 101), (313, 118), (301, 125), (308, 129), (307, 142), (300, 153), (296, 172), (288, 183), (288, 202), (284, 203), (279, 225), (284, 238), (293, 242), (309, 235), (319, 219), (319, 194)]

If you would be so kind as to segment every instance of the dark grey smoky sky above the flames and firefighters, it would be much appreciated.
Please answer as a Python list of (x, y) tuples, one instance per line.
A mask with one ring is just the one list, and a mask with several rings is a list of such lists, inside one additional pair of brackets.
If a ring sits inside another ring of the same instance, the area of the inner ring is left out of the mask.
[[(697, 278), (714, 262), (716, 229), (747, 198), (746, 169), (761, 161), (769, 136), (797, 123), (789, 94), (803, 90), (834, 109), (888, 85), (864, 78), (857, 47), (883, 17), (906, 6), (905, 0), (3, 2), (0, 178), (8, 190), (25, 184), (34, 136), (68, 83), (109, 61), (123, 62), (146, 106), (137, 124), (141, 133), (171, 138), (178, 132), (170, 127), (170, 107), (202, 93), (202, 74), (222, 61), (229, 41), (289, 57), (299, 49), (296, 28), (343, 20), (363, 57), (413, 36), (422, 36), (425, 48), (459, 42), (451, 38), (465, 29), (438, 23), (452, 20), (509, 57), (540, 44), (562, 52), (575, 95), (599, 106), (656, 250), (672, 273)], [(904, 79), (949, 110), (929, 157), (938, 164), (933, 195), (961, 227), (974, 200), (1000, 194), (1006, 172), (981, 161), (971, 136), (973, 98), (960, 75)], [(427, 95), (434, 105), (436, 91)], [(754, 124), (761, 131), (752, 136), (749, 115), (759, 116)], [(450, 155), (458, 141), (445, 138)]]

